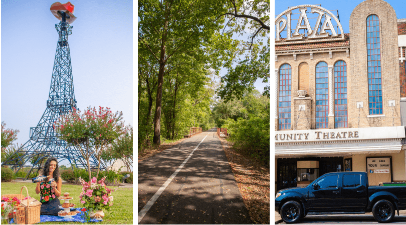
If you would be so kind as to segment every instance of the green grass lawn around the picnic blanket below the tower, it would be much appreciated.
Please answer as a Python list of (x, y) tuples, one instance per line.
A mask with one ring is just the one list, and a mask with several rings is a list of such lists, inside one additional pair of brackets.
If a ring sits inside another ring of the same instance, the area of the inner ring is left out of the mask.
[[(3, 194), (17, 194), (20, 193), (21, 187), (27, 186), (28, 193), (31, 197), (40, 198), (40, 194), (35, 193), (36, 183), (26, 182), (2, 182), (2, 195)], [(109, 188), (115, 188), (109, 186)], [(75, 203), (77, 207), (82, 207), (82, 203), (79, 201), (79, 195), (82, 192), (82, 185), (73, 185), (62, 183), (62, 193), (69, 192), (73, 197), (69, 202)], [(24, 196), (27, 195), (27, 191), (23, 189)], [(111, 194), (114, 196), (113, 206), (108, 211), (105, 211), (103, 221), (101, 222), (89, 222), (90, 224), (133, 224), (132, 219), (132, 188), (118, 188)], [(63, 202), (62, 202), (63, 203)], [(84, 224), (81, 222), (40, 222), (37, 224)]]

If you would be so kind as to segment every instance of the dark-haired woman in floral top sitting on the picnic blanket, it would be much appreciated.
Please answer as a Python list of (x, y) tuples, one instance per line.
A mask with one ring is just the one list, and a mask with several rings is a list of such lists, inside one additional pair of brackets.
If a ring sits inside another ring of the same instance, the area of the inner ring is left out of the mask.
[[(37, 182), (37, 187), (35, 188), (37, 194), (41, 192), (39, 199), (42, 203), (41, 214), (58, 215), (58, 211), (61, 210), (61, 208), (59, 208), (61, 202), (58, 197), (61, 196), (62, 179), (59, 174), (57, 158), (48, 158), (42, 172), (47, 178), (42, 182)], [(49, 181), (50, 178), (54, 178), (55, 180)]]

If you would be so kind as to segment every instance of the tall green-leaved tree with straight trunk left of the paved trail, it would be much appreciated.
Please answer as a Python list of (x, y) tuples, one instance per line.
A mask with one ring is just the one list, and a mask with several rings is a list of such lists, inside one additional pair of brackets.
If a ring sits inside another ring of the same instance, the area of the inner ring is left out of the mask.
[(138, 43), (149, 50), (159, 65), (159, 71), (155, 70), (155, 144), (160, 144), (163, 76), (168, 59), (181, 53), (202, 51), (202, 43), (210, 41), (210, 37), (224, 22), (222, 18), (216, 19), (225, 13), (223, 6), (223, 2), (218, 0), (138, 1)]

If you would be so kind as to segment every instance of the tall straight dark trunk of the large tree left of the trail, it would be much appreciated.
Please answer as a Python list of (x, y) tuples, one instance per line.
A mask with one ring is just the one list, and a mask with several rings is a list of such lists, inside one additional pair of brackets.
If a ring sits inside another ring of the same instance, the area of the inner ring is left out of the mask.
[[(168, 27), (168, 21), (165, 21), (163, 27), (163, 33), (166, 33)], [(155, 116), (154, 116), (154, 138), (155, 144), (161, 144), (161, 106), (162, 106), (162, 85), (163, 85), (163, 73), (165, 72), (165, 34), (162, 35), (161, 42), (161, 54), (159, 59), (159, 72), (156, 88), (156, 104), (155, 104)]]

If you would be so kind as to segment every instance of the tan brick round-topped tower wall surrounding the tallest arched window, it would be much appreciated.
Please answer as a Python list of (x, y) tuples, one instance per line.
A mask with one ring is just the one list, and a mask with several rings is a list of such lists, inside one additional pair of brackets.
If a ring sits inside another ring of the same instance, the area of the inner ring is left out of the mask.
[[(379, 17), (380, 44), (381, 44), (381, 77), (382, 77), (382, 105), (384, 117), (370, 117), (368, 108), (368, 72), (366, 49), (366, 18), (375, 14)], [(389, 100), (395, 100), (394, 125), (400, 125), (400, 80), (399, 58), (397, 47), (398, 24), (392, 6), (383, 0), (365, 0), (352, 11), (349, 21), (350, 28), (350, 58), (351, 82), (356, 83), (349, 89), (352, 103), (348, 108), (355, 108), (356, 101), (363, 101), (363, 108), (349, 110), (351, 118), (359, 116), (360, 127), (392, 126), (393, 108), (388, 105)], [(350, 119), (348, 119), (350, 120)], [(353, 122), (354, 119), (353, 119)], [(358, 119), (356, 119), (358, 122)]]

